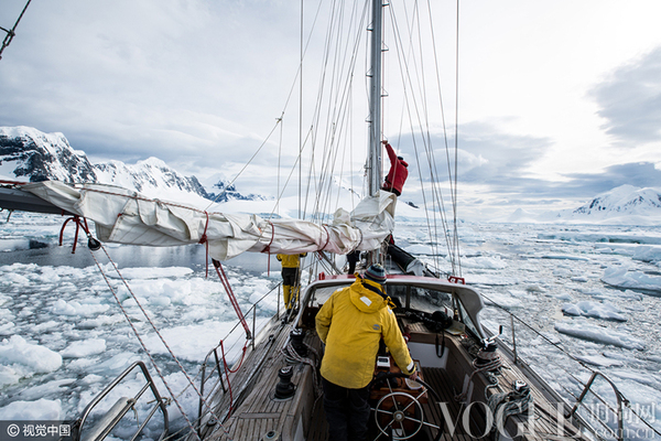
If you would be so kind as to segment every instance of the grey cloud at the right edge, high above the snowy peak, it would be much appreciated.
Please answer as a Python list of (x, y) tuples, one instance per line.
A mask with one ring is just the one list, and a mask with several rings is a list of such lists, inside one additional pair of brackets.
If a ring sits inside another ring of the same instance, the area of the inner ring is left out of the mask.
[(661, 140), (661, 47), (617, 68), (589, 92), (607, 133), (626, 147)]

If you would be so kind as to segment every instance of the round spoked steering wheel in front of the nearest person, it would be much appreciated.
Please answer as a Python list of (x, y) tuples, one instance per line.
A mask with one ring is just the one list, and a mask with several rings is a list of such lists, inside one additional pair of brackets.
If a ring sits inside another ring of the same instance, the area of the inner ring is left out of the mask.
[[(443, 434), (443, 422), (436, 426), (425, 420), (424, 410), (420, 399), (424, 396), (432, 400), (432, 406), (441, 401), (438, 394), (421, 379), (416, 379), (422, 388), (415, 391), (405, 392), (401, 390), (392, 390), (390, 384), (391, 378), (407, 378), (408, 376), (401, 373), (388, 373), (375, 378), (370, 384), (370, 389), (376, 385), (386, 383), (389, 392), (386, 394), (377, 405), (371, 408), (375, 412), (375, 422), (379, 429), (379, 433), (375, 441), (381, 435), (390, 437), (393, 440), (408, 440), (418, 434), (423, 428), (427, 429), (429, 438), (433, 441), (438, 441)], [(413, 395), (414, 392), (418, 392)]]

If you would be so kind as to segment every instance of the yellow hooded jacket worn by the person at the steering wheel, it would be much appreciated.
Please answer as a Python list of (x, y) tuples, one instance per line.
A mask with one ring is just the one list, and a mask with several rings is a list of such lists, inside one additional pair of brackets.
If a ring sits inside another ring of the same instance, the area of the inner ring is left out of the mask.
[(381, 337), (404, 374), (415, 370), (388, 301), (362, 283), (380, 287), (357, 278), (350, 287), (335, 291), (316, 316), (317, 334), (326, 344), (322, 376), (349, 389), (360, 389), (371, 381)]

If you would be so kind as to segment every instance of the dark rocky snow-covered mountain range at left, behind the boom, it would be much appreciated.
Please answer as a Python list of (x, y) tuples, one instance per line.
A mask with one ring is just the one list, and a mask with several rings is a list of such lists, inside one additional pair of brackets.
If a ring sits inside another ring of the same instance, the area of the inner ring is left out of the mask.
[[(134, 190), (148, 197), (191, 202), (214, 200), (195, 176), (184, 176), (156, 158), (136, 164), (109, 161), (91, 164), (85, 152), (74, 150), (63, 133), (44, 133), (31, 127), (0, 127), (0, 179), (67, 183), (94, 182)], [(225, 183), (215, 186), (223, 189)], [(243, 196), (231, 186), (224, 201), (261, 198)]]

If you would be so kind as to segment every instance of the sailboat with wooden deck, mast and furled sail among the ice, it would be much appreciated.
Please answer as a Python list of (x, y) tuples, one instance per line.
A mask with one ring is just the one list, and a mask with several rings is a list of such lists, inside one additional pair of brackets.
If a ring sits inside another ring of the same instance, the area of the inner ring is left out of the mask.
[[(365, 25), (357, 25), (353, 31), (364, 33), (365, 28), (368, 29), (370, 63), (367, 68), (368, 196), (351, 212), (338, 209), (330, 222), (325, 222), (323, 216), (319, 222), (264, 219), (257, 215), (224, 214), (155, 201), (118, 187), (66, 185), (54, 181), (8, 185), (0, 192), (2, 206), (72, 215), (76, 228), (88, 236), (90, 249), (100, 249), (104, 243), (203, 244), (219, 276), (223, 261), (243, 252), (307, 252), (315, 254), (316, 261), (325, 262), (327, 269), (324, 271), (310, 267), (308, 272), (315, 273), (314, 280), (293, 297), (294, 304), (288, 305), (291, 308), (283, 306), (281, 311), (279, 306), (278, 313), (261, 329), (256, 329), (254, 320), (252, 326), (248, 323), (256, 306), (242, 312), (232, 301), (238, 314), (235, 331), (209, 349), (198, 381), (189, 379), (199, 397), (199, 409), (196, 417), (186, 417), (187, 440), (327, 439), (318, 373), (324, 347), (316, 334), (315, 315), (333, 292), (356, 281), (356, 276), (344, 273), (332, 257), (354, 251), (360, 251), (362, 256), (359, 269), (373, 262), (387, 268), (387, 294), (397, 304), (393, 312), (402, 333), (407, 334), (409, 351), (421, 373), (418, 380), (410, 380), (386, 351), (375, 359), (370, 390), (371, 439), (624, 439), (621, 410), (626, 399), (615, 385), (618, 402), (611, 411), (619, 420), (604, 437), (578, 411), (594, 378), (576, 404), (568, 406), (520, 359), (516, 346), (512, 349), (502, 344), (500, 335), (490, 333), (483, 325), (483, 297), (459, 272), (458, 240), (456, 236), (452, 237), (456, 234), (456, 209), (453, 226), (444, 219), (440, 228), (449, 232), (448, 248), (454, 256), (453, 269), (446, 277), (437, 268), (389, 243), (398, 197), (381, 189), (381, 106), (384, 99), (381, 68), (387, 47), (383, 43), (386, 10), (391, 11), (392, 6), (382, 0), (371, 0), (369, 7), (366, 3), (364, 9), (354, 10), (357, 23)], [(335, 35), (332, 32), (335, 31), (329, 31), (328, 35)], [(354, 39), (346, 42), (359, 41), (357, 36)], [(408, 50), (400, 44), (398, 50), (401, 55), (407, 55)], [(416, 53), (411, 55), (419, 56)], [(351, 58), (351, 63), (347, 77), (355, 68), (355, 60)], [(402, 65), (402, 71), (404, 67), (408, 65)], [(404, 77), (410, 75), (414, 73), (403, 74)], [(336, 90), (338, 96), (344, 92)], [(408, 92), (414, 94), (414, 90)], [(338, 119), (346, 116), (333, 110)], [(410, 117), (419, 111), (412, 107), (407, 110)], [(340, 131), (336, 123), (329, 123), (328, 130), (329, 142), (337, 143)], [(430, 160), (430, 163), (433, 173), (435, 161)], [(451, 186), (451, 192), (456, 196), (455, 186)], [(432, 194), (437, 197), (438, 190), (433, 190)], [(438, 203), (436, 207), (440, 209), (441, 205)], [(94, 220), (95, 235), (86, 219)], [(227, 347), (237, 342), (238, 349), (232, 352)], [(155, 397), (151, 415), (160, 409), (167, 421), (166, 400), (153, 387), (143, 364), (131, 366), (118, 381), (136, 368), (142, 369), (148, 378), (140, 394), (151, 389)], [(600, 374), (595, 372), (594, 377), (598, 376)], [(101, 396), (115, 385), (109, 385)], [(171, 395), (176, 401), (174, 394)], [(130, 412), (137, 399), (121, 397), (104, 418), (86, 424), (89, 412), (98, 402), (94, 400), (77, 420), (77, 437), (102, 440)], [(145, 423), (138, 427), (136, 437)], [(165, 427), (161, 439), (172, 437)]]

